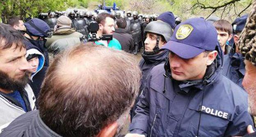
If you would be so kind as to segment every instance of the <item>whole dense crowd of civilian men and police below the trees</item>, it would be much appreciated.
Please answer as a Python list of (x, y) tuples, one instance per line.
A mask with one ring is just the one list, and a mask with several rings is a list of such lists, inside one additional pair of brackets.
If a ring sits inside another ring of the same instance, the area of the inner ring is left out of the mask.
[(256, 2), (232, 23), (47, 16), (0, 23), (0, 137), (256, 137)]

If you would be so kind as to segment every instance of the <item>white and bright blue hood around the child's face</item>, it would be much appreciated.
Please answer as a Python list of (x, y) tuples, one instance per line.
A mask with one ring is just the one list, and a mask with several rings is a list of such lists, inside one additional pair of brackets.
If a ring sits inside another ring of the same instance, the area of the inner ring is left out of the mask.
[(39, 65), (37, 67), (37, 71), (35, 73), (32, 73), (31, 75), (31, 79), (34, 77), (34, 75), (36, 75), (42, 68), (43, 68), (43, 64), (44, 64), (44, 56), (41, 52), (39, 52), (37, 49), (29, 49), (27, 50), (27, 54), (26, 54), (26, 57), (28, 55), (32, 55), (32, 54), (37, 54), (39, 55), (38, 59), (39, 59)]

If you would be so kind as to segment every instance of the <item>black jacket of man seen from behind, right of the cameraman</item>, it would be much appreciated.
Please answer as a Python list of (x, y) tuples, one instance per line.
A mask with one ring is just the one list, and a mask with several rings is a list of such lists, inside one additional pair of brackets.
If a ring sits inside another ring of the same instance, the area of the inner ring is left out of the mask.
[(130, 53), (134, 49), (133, 36), (126, 29), (116, 29), (113, 38), (117, 39), (122, 46), (122, 50)]

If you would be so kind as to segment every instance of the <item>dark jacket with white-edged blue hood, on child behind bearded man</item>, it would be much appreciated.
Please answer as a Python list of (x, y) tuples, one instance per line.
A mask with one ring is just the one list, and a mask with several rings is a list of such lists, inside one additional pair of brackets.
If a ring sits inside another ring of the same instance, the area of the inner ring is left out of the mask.
[(47, 67), (43, 66), (45, 59), (41, 52), (39, 52), (37, 49), (28, 49), (26, 57), (28, 55), (32, 55), (32, 54), (39, 55), (39, 57), (38, 57), (39, 65), (37, 67), (37, 71), (35, 73), (32, 73), (32, 75), (30, 77), (30, 82), (29, 82), (30, 86), (33, 89), (34, 95), (37, 98), (39, 95), (39, 92), (40, 92), (40, 87), (43, 82), (43, 78), (46, 73)]

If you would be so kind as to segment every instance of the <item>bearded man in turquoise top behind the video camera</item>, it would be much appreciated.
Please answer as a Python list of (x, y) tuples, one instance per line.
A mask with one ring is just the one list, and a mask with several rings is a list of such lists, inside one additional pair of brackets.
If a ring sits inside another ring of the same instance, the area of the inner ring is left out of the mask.
[[(96, 22), (99, 24), (99, 29), (96, 34), (97, 38), (101, 37), (103, 34), (112, 35), (114, 33), (114, 19), (109, 13), (100, 13), (96, 18)], [(99, 40), (96, 41), (95, 44), (121, 50), (121, 44), (115, 38), (112, 40)]]

